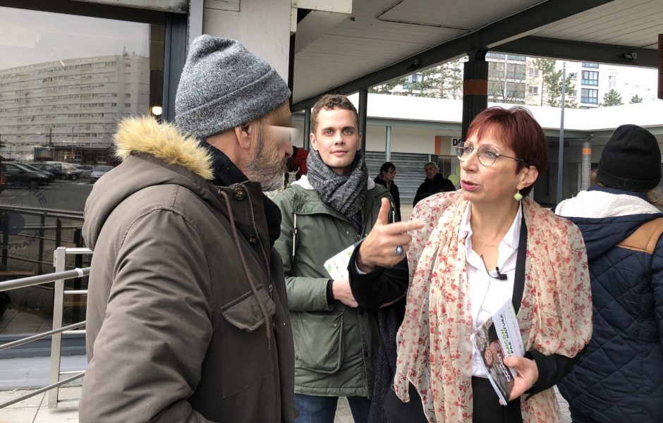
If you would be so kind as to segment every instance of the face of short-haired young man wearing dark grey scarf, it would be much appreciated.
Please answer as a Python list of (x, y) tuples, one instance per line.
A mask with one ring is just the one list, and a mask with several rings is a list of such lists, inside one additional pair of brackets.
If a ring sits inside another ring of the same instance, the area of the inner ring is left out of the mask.
[(359, 149), (361, 134), (352, 111), (320, 109), (315, 133), (310, 134), (311, 147), (320, 152), (324, 164), (332, 171), (346, 173)]

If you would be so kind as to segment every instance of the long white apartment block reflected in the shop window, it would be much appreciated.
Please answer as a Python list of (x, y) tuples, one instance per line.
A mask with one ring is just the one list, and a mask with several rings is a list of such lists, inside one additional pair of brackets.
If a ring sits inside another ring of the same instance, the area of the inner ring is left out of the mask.
[(35, 147), (110, 147), (117, 119), (145, 114), (149, 101), (150, 59), (143, 56), (124, 53), (2, 69), (1, 154), (32, 160)]

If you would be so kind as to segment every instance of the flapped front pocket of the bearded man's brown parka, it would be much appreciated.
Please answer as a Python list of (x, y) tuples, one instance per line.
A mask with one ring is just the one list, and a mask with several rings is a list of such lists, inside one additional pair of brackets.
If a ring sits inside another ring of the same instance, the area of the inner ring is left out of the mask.
[(221, 334), (224, 345), (221, 358), (224, 398), (248, 388), (258, 388), (263, 379), (275, 377), (275, 341), (272, 336), (270, 348), (258, 301), (262, 302), (270, 318), (276, 314), (276, 305), (262, 285), (256, 289), (257, 298), (252, 291), (248, 291), (220, 310), (224, 317)]

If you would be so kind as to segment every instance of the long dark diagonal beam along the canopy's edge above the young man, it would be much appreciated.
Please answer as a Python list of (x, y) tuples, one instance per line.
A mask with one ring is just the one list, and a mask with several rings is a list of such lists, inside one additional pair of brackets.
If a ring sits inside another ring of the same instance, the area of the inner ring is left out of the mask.
[(368, 73), (343, 85), (320, 92), (308, 99), (293, 104), (293, 111), (312, 106), (322, 95), (331, 92), (349, 94), (360, 89), (372, 87), (381, 82), (413, 73), (418, 69), (437, 65), (448, 59), (466, 54), (473, 49), (496, 47), (524, 37), (544, 25), (568, 18), (591, 8), (610, 3), (613, 0), (548, 0), (520, 13), (486, 25), (468, 35), (463, 35), (449, 42), (422, 51), (390, 66)]

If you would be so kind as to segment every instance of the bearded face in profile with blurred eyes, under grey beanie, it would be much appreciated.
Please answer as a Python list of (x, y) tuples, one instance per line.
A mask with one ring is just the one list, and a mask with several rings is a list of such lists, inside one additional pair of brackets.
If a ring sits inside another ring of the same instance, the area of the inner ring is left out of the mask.
[(250, 180), (259, 180), (263, 191), (276, 190), (283, 185), (287, 160), (293, 154), (290, 121), (290, 109), (285, 102), (264, 118), (257, 131), (253, 160), (245, 174)]

